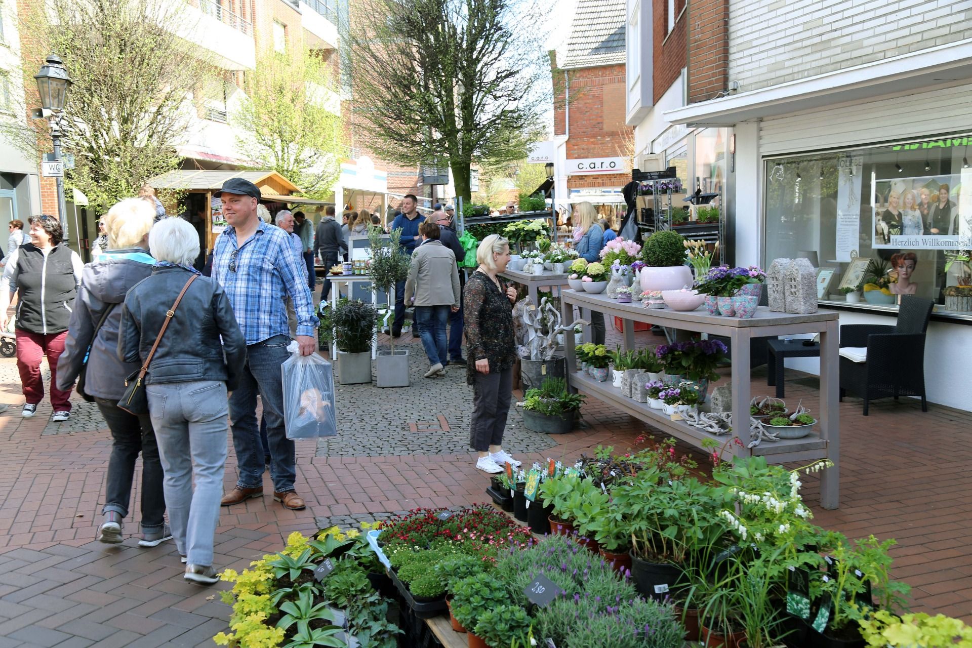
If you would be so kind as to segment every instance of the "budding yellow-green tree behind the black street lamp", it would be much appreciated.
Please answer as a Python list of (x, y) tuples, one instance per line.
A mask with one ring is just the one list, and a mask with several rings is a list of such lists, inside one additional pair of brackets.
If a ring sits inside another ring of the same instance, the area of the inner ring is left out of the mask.
[[(191, 30), (189, 5), (167, 0), (47, 0), (21, 3), (20, 29), (32, 44), (22, 74), (31, 77), (49, 51), (73, 81), (60, 125), (75, 168), (68, 188), (105, 210), (158, 174), (177, 168), (193, 89), (210, 70), (205, 55), (177, 35)], [(34, 102), (36, 99), (28, 99)], [(24, 112), (28, 107), (23, 106)], [(51, 151), (47, 122), (8, 123), (6, 134), (26, 152)]]

